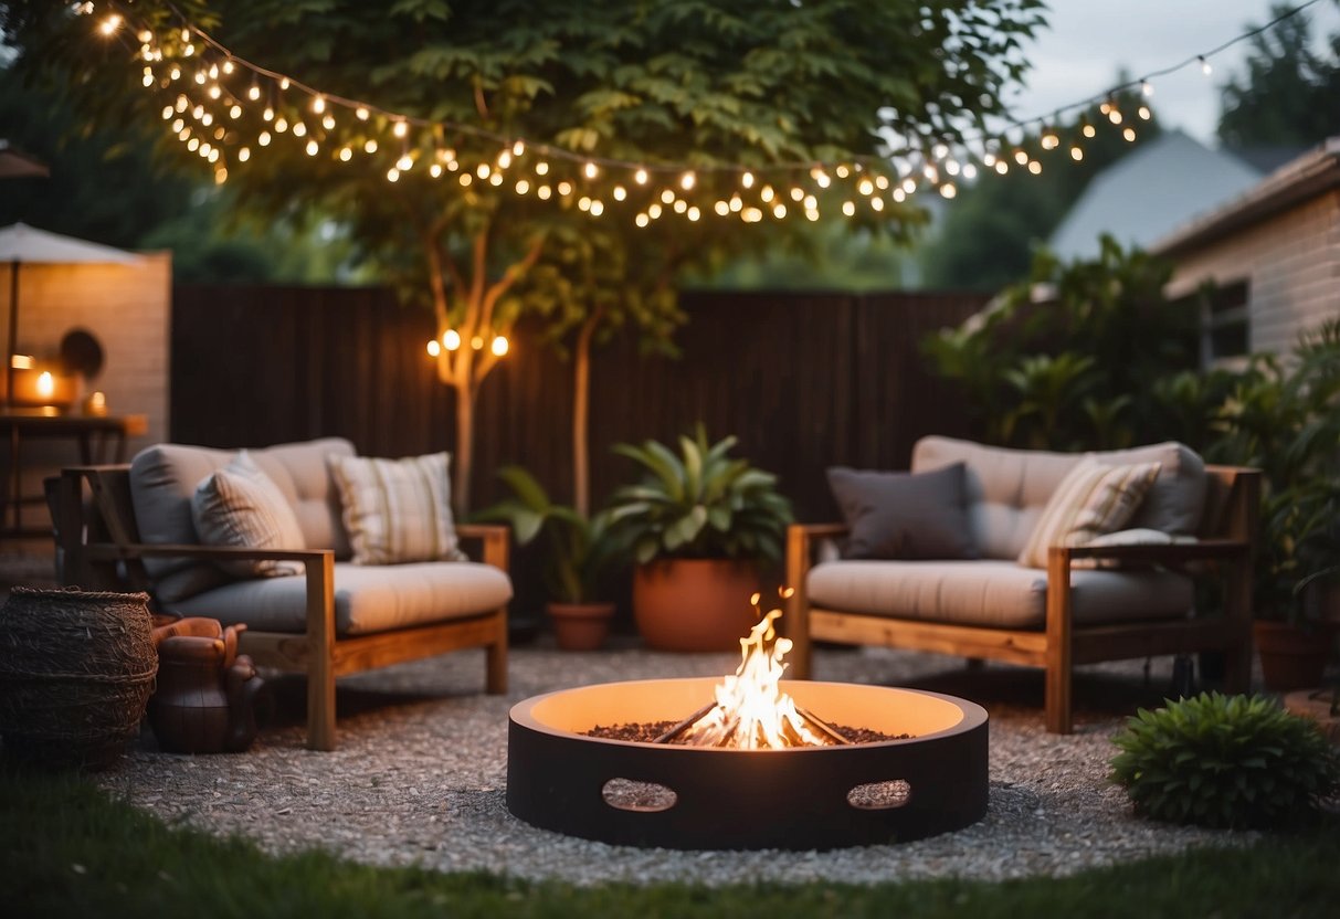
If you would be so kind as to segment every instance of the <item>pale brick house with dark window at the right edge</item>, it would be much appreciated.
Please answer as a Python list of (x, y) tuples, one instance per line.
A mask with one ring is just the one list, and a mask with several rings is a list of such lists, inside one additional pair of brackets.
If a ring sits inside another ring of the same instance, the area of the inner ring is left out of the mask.
[(1340, 317), (1340, 137), (1148, 246), (1175, 264), (1168, 296), (1215, 293), (1203, 309), (1206, 363), (1286, 352)]

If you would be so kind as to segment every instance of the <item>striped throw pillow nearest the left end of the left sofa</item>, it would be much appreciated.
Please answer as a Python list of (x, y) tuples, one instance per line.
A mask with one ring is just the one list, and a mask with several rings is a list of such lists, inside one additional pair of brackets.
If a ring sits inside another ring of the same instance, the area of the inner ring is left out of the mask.
[[(275, 481), (247, 450), (206, 476), (190, 498), (190, 518), (204, 545), (248, 549), (306, 549), (303, 528)], [(240, 560), (218, 567), (233, 577), (303, 573), (302, 561)]]

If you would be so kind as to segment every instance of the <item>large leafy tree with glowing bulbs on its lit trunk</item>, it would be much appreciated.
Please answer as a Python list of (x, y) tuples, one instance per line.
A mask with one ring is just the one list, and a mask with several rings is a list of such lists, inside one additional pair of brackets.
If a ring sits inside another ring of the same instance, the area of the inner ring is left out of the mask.
[[(438, 356), (457, 395), (461, 506), (476, 393), (498, 360), (490, 342), (501, 350), (519, 315), (563, 296), (521, 284), (561, 261), (552, 240), (599, 236), (594, 252), (642, 253), (645, 224), (659, 228), (653, 241), (675, 237), (673, 267), (710, 246), (764, 245), (831, 182), (896, 220), (903, 206), (858, 190), (886, 163), (876, 129), (922, 155), (1000, 113), (1025, 67), (1020, 42), (1043, 23), (1037, 0), (178, 7), (135, 4), (130, 28), (113, 31), (126, 46), (40, 0), (11, 3), (4, 25), (19, 66), (67, 74), (90, 118), (162, 117), (178, 158), (204, 157), (263, 212), (338, 214), (406, 300), (430, 305), (449, 346), (461, 343)], [(574, 308), (598, 307), (570, 301), (561, 322)]]

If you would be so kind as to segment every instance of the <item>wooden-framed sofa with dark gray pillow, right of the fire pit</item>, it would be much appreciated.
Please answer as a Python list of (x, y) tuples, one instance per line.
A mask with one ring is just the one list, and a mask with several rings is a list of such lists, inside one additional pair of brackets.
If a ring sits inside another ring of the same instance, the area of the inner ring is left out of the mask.
[[(1172, 442), (1067, 454), (926, 437), (911, 473), (829, 481), (846, 522), (788, 533), (796, 677), (815, 638), (1043, 666), (1057, 733), (1076, 663), (1217, 650), (1246, 689), (1256, 470)], [(1195, 581), (1211, 575), (1222, 615), (1198, 616)]]

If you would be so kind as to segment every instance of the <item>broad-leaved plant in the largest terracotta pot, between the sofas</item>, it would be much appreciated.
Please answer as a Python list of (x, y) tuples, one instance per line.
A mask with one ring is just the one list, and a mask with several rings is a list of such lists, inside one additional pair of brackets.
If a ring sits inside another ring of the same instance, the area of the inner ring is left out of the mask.
[(777, 477), (732, 458), (698, 425), (679, 450), (619, 443), (642, 469), (610, 502), (610, 532), (635, 564), (632, 615), (646, 643), (667, 651), (729, 651), (754, 623), (760, 564), (781, 557), (791, 502)]

